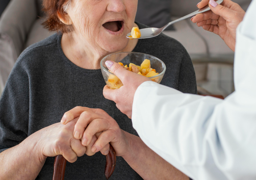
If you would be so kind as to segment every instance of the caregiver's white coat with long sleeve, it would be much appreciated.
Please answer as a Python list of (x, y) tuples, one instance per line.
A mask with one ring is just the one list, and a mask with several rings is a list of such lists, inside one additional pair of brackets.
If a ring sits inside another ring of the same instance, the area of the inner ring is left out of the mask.
[(225, 100), (155, 82), (137, 89), (132, 123), (145, 144), (194, 180), (256, 179), (256, 0), (237, 29), (235, 92)]

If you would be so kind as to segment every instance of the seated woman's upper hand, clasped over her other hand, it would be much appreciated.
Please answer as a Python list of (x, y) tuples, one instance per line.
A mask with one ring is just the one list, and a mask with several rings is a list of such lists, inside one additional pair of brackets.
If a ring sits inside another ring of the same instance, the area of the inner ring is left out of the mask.
[(61, 122), (67, 124), (78, 118), (74, 127), (74, 137), (82, 139), (86, 146), (86, 154), (93, 155), (100, 151), (103, 155), (109, 153), (109, 142), (117, 156), (123, 156), (128, 151), (128, 133), (121, 130), (117, 122), (102, 109), (90, 109), (77, 106), (67, 111)]

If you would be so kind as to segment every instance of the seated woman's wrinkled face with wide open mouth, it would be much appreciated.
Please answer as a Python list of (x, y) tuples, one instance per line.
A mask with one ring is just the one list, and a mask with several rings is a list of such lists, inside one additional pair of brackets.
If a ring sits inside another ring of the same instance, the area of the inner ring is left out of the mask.
[[(67, 10), (75, 33), (96, 49), (124, 49), (134, 25), (138, 0), (72, 0)], [(82, 40), (82, 39), (81, 39)]]

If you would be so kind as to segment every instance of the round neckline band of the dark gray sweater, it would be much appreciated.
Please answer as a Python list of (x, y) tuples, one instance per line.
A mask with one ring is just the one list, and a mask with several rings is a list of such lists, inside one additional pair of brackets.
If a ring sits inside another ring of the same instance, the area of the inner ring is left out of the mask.
[[(136, 24), (139, 26), (139, 28), (141, 28), (140, 24), (136, 22)], [(64, 59), (68, 64), (70, 64), (72, 67), (74, 67), (75, 69), (82, 71), (82, 72), (86, 72), (86, 73), (99, 73), (101, 72), (101, 69), (97, 69), (97, 70), (93, 70), (93, 69), (84, 69), (83, 67), (80, 67), (76, 64), (74, 64), (72, 61), (70, 61), (67, 56), (64, 54), (62, 48), (61, 48), (61, 37), (62, 37), (62, 33), (58, 34), (58, 39), (57, 39), (57, 45), (58, 45), (58, 49), (60, 52), (60, 55), (62, 57), (62, 59)], [(134, 47), (134, 49), (131, 52), (137, 52), (138, 48), (140, 47), (141, 44), (141, 40), (138, 41), (138, 43), (136, 44), (136, 46)]]

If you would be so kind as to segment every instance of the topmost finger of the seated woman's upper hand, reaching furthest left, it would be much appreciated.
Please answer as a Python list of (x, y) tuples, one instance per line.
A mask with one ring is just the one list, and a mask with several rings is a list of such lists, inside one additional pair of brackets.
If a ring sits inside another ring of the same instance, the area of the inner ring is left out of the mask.
[(73, 119), (79, 117), (81, 115), (81, 113), (84, 112), (84, 111), (95, 112), (95, 109), (91, 109), (91, 108), (88, 108), (88, 107), (76, 106), (73, 109), (65, 112), (65, 114), (63, 115), (60, 122), (62, 124), (67, 124), (69, 121), (72, 121)]

